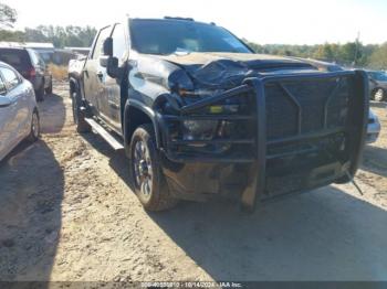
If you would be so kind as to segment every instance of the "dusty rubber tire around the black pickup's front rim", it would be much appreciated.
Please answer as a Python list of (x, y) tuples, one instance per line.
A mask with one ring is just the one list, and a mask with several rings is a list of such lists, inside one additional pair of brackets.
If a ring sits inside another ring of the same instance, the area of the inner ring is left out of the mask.
[[(145, 144), (150, 157), (151, 192), (149, 193), (149, 196), (145, 196), (142, 193), (140, 188), (136, 181), (135, 149), (138, 141), (142, 141)], [(170, 195), (168, 185), (161, 171), (160, 156), (159, 151), (156, 149), (155, 131), (151, 125), (142, 125), (135, 130), (129, 146), (129, 156), (130, 175), (132, 180), (134, 181), (135, 193), (144, 208), (155, 212), (174, 207), (177, 204), (177, 200)]]

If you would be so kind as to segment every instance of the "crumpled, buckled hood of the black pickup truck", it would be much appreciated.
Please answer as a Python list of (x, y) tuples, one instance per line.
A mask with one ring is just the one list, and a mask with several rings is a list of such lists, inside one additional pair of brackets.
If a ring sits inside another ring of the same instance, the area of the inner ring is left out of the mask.
[(167, 84), (168, 88), (171, 88), (174, 83), (180, 86), (181, 82), (187, 88), (231, 88), (240, 85), (244, 78), (262, 73), (301, 73), (317, 69), (301, 60), (253, 53), (138, 56), (138, 73), (148, 76), (148, 81), (158, 78), (157, 82)]

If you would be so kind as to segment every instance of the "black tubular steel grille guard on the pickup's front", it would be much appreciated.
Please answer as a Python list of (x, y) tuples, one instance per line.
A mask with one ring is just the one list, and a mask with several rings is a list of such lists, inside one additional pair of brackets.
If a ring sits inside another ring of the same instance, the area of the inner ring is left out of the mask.
[[(352, 119), (351, 126), (343, 128), (328, 129), (327, 124), (327, 107), (331, 99), (335, 96), (335, 90), (327, 97), (324, 106), (324, 129), (313, 133), (302, 133), (301, 122), (302, 113), (301, 106), (296, 98), (289, 92), (285, 86), (282, 85), (286, 81), (308, 81), (308, 79), (324, 79), (330, 77), (353, 77), (354, 78), (354, 93), (355, 95), (349, 97), (348, 103), (348, 118)], [(284, 89), (286, 97), (297, 107), (297, 132), (294, 136), (278, 139), (266, 139), (266, 115), (265, 115), (265, 93), (264, 87), (268, 83), (276, 83), (282, 89)], [(218, 104), (227, 98), (231, 97), (245, 97), (247, 94), (254, 94), (254, 101), (251, 104), (251, 113), (249, 115), (196, 115), (195, 113)], [(165, 156), (175, 162), (224, 162), (224, 163), (250, 163), (251, 170), (248, 176), (248, 186), (242, 193), (241, 203), (242, 206), (248, 210), (253, 210), (255, 206), (257, 195), (263, 193), (265, 188), (265, 167), (266, 160), (283, 157), (283, 156), (269, 156), (266, 154), (266, 147), (270, 144), (285, 143), (300, 140), (308, 140), (326, 137), (330, 135), (346, 132), (349, 138), (349, 160), (345, 165), (347, 172), (353, 176), (359, 165), (362, 159), (362, 151), (365, 144), (365, 137), (367, 130), (368, 119), (368, 81), (365, 72), (363, 71), (343, 71), (332, 73), (307, 73), (302, 75), (272, 75), (264, 77), (253, 77), (244, 79), (241, 86), (223, 92), (219, 95), (211, 96), (199, 100), (195, 104), (181, 107), (179, 115), (161, 115), (157, 114), (158, 124), (161, 131), (163, 151)], [(184, 120), (231, 120), (251, 121), (254, 126), (255, 133), (251, 138), (229, 138), (229, 139), (216, 139), (216, 140), (172, 140), (169, 126), (170, 121), (184, 121)], [(210, 156), (203, 157), (200, 153), (196, 156), (189, 156), (177, 152), (174, 148), (176, 146), (186, 144), (206, 144), (206, 143), (229, 143), (229, 144), (247, 144), (251, 146), (251, 152), (243, 151), (240, 154), (233, 156)], [(294, 152), (297, 153), (297, 152)]]

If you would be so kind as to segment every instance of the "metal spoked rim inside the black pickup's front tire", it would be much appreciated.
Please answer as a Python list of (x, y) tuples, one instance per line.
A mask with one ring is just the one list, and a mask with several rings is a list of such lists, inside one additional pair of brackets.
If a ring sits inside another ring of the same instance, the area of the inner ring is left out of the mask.
[(151, 196), (153, 168), (149, 149), (143, 140), (138, 140), (133, 153), (134, 176), (136, 186), (145, 200)]

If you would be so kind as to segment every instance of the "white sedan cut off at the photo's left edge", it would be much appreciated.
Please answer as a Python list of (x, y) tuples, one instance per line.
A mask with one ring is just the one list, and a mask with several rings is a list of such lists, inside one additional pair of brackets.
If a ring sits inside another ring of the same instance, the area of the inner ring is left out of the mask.
[(32, 84), (12, 66), (0, 62), (0, 160), (22, 140), (40, 135), (39, 111)]

